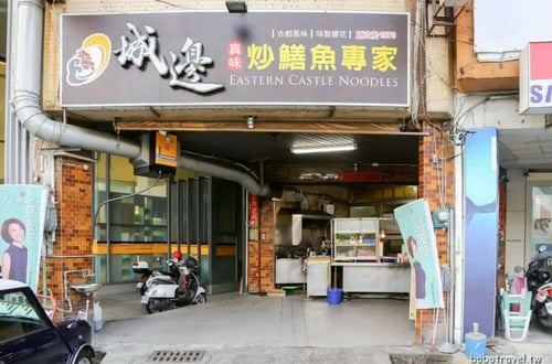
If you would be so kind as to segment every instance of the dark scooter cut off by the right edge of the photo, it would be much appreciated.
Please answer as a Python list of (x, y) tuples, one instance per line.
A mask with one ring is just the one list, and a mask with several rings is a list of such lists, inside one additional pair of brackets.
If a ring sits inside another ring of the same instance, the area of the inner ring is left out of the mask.
[[(531, 291), (531, 311), (537, 323), (544, 330), (552, 332), (552, 256), (545, 255), (546, 246), (539, 247), (534, 257), (524, 271), (527, 289)], [(514, 271), (523, 268), (516, 267)]]

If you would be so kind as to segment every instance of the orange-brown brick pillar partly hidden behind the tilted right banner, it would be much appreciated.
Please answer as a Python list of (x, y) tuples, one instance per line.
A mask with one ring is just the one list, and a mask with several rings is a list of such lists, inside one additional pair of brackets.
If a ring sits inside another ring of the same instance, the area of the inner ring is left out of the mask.
[[(436, 128), (424, 124), (424, 130), (431, 135), (422, 138), (420, 143), (420, 184), (418, 196), (429, 203), (429, 208), (442, 208), (453, 206), (454, 199), (454, 149), (446, 143), (447, 133), (439, 132)], [(445, 143), (444, 143), (445, 141)], [(434, 163), (434, 156), (437, 164)], [(444, 202), (444, 206), (442, 205)], [(447, 231), (436, 229), (437, 251), (439, 265), (447, 264)], [(445, 307), (447, 295), (445, 293)], [(437, 324), (436, 340), (443, 342), (445, 336), (444, 319), (446, 311), (440, 310)], [(433, 309), (416, 310), (416, 341), (418, 344), (427, 345), (433, 341), (434, 320), (436, 312)]]

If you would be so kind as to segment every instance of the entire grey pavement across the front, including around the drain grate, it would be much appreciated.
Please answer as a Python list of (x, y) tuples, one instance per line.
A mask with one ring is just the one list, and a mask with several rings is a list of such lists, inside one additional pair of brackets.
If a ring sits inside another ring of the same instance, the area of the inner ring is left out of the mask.
[[(300, 293), (224, 293), (210, 296), (204, 304), (148, 314), (132, 285), (117, 285), (103, 287), (95, 301), (105, 320), (93, 336), (94, 346), (106, 353), (102, 364), (178, 363), (184, 357), (198, 363), (469, 363), (463, 351), (448, 355), (416, 345), (404, 300), (352, 299), (330, 306)], [(539, 338), (538, 343), (516, 344), (499, 338), (487, 353), (527, 354), (552, 363), (552, 334)], [(168, 352), (167, 360), (161, 351)]]

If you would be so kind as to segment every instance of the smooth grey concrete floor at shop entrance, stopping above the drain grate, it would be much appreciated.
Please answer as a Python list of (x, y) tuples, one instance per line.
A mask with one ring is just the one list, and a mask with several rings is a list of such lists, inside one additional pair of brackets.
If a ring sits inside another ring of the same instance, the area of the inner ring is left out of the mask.
[(106, 321), (106, 330), (96, 333), (96, 341), (120, 335), (151, 343), (144, 329), (153, 330), (153, 325), (162, 328), (156, 329), (156, 338), (164, 343), (181, 343), (182, 328), (193, 330), (188, 343), (203, 345), (362, 346), (413, 345), (415, 341), (404, 299), (350, 299), (328, 304), (326, 298), (306, 299), (300, 291), (286, 297), (235, 292), (210, 296), (206, 304), (148, 314), (131, 287), (120, 286), (123, 291), (116, 295), (110, 293), (114, 289), (105, 287), (96, 293)]

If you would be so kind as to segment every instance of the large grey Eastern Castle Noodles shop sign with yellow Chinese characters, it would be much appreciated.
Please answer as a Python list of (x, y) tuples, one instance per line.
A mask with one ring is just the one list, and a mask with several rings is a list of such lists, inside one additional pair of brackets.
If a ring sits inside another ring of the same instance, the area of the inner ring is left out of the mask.
[(408, 29), (402, 12), (63, 14), (61, 103), (405, 108)]

